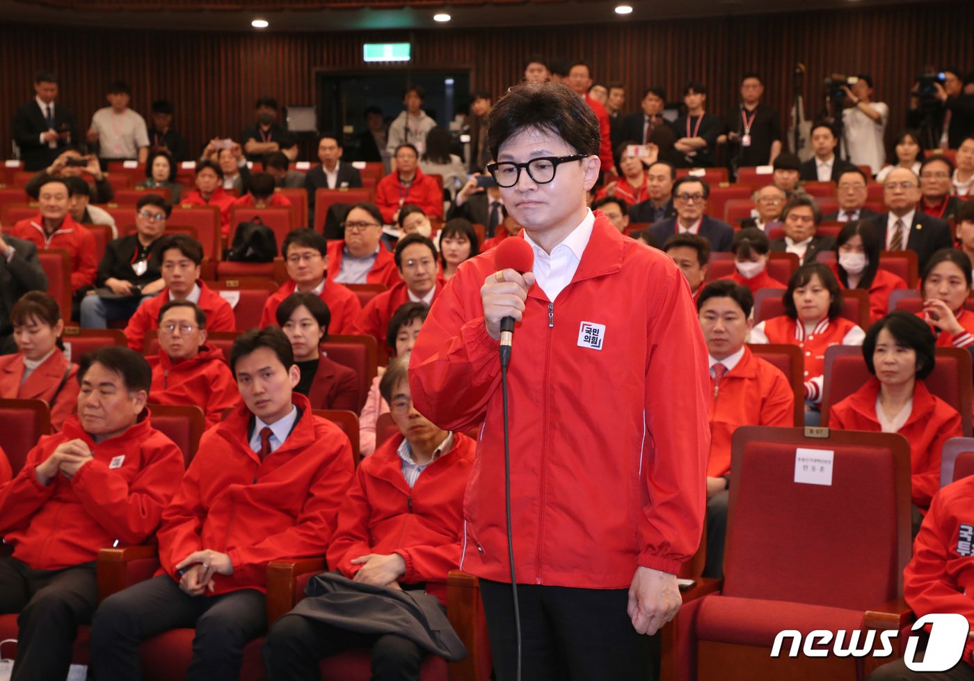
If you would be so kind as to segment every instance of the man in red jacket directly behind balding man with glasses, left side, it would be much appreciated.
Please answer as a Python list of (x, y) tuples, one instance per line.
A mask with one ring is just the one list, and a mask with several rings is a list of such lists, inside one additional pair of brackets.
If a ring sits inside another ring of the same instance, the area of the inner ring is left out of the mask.
[(230, 303), (200, 280), (203, 246), (185, 234), (163, 237), (159, 256), (166, 288), (138, 307), (125, 327), (129, 347), (142, 352), (145, 332), (159, 328), (159, 312), (170, 300), (188, 300), (199, 305), (206, 315), (209, 331), (236, 331), (237, 318)]

